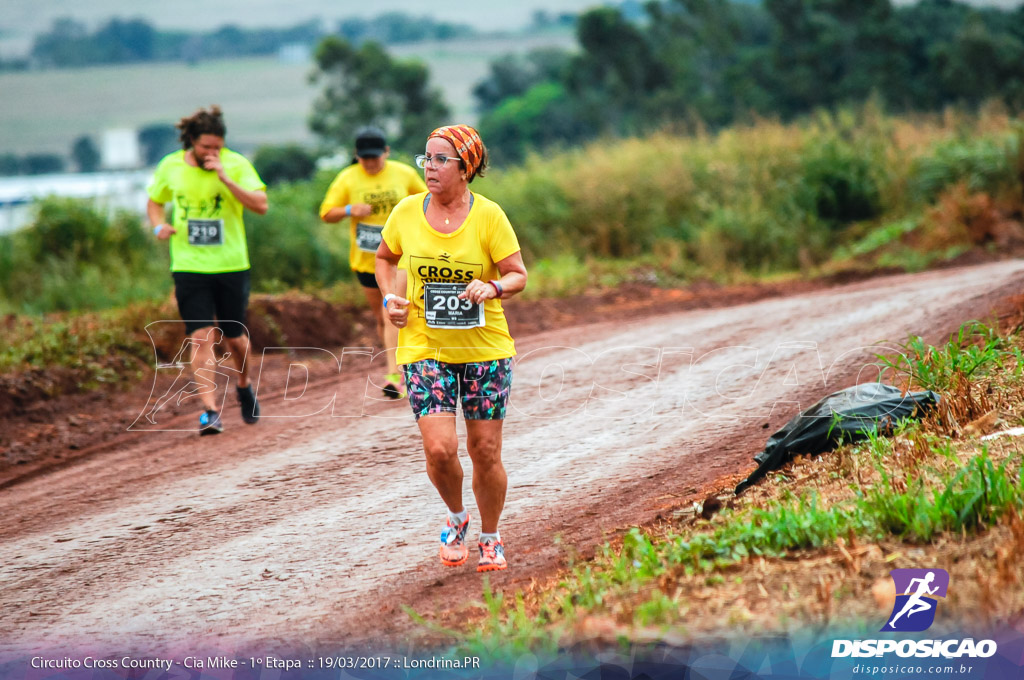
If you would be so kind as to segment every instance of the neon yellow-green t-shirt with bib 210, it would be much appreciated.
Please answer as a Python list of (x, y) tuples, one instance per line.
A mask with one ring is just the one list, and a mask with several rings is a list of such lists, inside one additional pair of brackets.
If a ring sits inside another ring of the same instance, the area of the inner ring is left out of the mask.
[[(241, 154), (222, 148), (224, 172), (246, 190), (265, 189), (256, 168)], [(146, 189), (156, 203), (174, 205), (171, 271), (221, 273), (249, 268), (245, 207), (211, 170), (185, 163), (184, 151), (164, 157)]]

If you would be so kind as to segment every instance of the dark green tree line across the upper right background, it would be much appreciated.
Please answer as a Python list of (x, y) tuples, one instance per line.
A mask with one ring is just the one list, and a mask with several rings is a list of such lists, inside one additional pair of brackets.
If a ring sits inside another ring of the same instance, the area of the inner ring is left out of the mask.
[(476, 87), (505, 160), (600, 135), (788, 120), (878, 97), (893, 112), (1024, 105), (1024, 7), (953, 0), (664, 0), (582, 14), (579, 49), (509, 55)]

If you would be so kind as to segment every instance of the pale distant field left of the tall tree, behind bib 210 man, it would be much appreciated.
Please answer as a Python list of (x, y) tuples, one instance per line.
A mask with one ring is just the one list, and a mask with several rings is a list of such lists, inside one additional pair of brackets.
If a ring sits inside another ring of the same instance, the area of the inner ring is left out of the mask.
[(219, 103), (229, 143), (308, 139), (308, 66), (274, 58), (0, 74), (0, 153), (67, 154), (83, 134), (173, 123)]

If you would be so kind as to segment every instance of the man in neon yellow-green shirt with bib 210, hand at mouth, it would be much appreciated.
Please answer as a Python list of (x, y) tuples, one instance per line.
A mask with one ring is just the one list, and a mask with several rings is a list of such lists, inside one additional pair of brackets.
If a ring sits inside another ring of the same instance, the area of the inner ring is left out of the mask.
[[(259, 420), (259, 402), (249, 384), (249, 249), (243, 212), (267, 211), (266, 186), (243, 156), (224, 147), (226, 127), (211, 107), (182, 118), (183, 150), (157, 166), (147, 193), (146, 215), (154, 233), (170, 242), (171, 272), (178, 311), (193, 344), (191, 369), (204, 411), (200, 434), (223, 430), (213, 375), (220, 368), (214, 345), (221, 335), (239, 373), (238, 397), (246, 423)], [(165, 206), (173, 205), (173, 224)], [(215, 332), (216, 324), (221, 333)]]

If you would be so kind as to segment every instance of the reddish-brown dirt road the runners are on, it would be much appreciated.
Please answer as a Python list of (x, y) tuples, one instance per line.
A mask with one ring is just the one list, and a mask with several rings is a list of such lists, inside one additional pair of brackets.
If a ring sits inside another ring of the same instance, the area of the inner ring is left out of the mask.
[[(881, 347), (939, 340), (1022, 288), (1010, 261), (519, 338), (512, 566), (492, 583), (523, 587), (568, 550), (734, 483), (798, 410), (873, 380)], [(330, 362), (254, 360), (258, 426), (233, 402), (216, 437), (195, 436), (193, 415), (158, 420), (0, 491), (3, 656), (396, 648), (416, 629), (402, 604), (479, 599), (472, 559), (436, 560), (443, 508), (408, 406)]]

